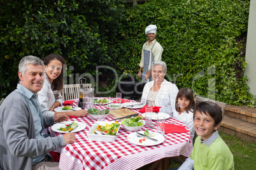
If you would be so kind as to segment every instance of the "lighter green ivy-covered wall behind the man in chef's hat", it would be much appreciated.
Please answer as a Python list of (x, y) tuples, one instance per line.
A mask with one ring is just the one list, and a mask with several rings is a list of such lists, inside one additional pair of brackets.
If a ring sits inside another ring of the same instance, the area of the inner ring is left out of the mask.
[(154, 24), (169, 81), (196, 95), (255, 107), (244, 75), (249, 6), (250, 1), (238, 0), (163, 0), (129, 9), (120, 27), (116, 65), (124, 73), (138, 74), (145, 27)]

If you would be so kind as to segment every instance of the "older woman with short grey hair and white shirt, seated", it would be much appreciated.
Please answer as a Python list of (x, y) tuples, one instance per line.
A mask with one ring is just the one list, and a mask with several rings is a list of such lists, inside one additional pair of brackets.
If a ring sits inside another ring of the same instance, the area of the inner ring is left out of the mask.
[(167, 72), (165, 62), (153, 62), (151, 68), (153, 81), (145, 84), (141, 103), (145, 103), (148, 106), (161, 107), (159, 112), (164, 112), (173, 117), (173, 113), (176, 112), (175, 99), (178, 88), (175, 84), (164, 79)]

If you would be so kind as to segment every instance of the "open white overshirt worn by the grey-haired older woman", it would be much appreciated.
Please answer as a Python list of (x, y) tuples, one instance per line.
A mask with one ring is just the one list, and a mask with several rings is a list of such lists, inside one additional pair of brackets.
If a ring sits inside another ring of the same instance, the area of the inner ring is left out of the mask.
[[(154, 81), (150, 81), (145, 84), (141, 96), (141, 103), (146, 104), (148, 93), (150, 92), (150, 89), (152, 88), (153, 84)], [(176, 112), (175, 100), (178, 91), (179, 90), (175, 84), (164, 79), (160, 86), (159, 93), (155, 97), (155, 106), (161, 107), (159, 112), (164, 112), (173, 117), (173, 113)]]

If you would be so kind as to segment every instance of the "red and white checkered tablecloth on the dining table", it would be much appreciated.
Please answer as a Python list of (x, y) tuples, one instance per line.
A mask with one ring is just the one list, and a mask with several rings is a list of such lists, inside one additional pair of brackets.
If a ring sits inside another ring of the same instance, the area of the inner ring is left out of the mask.
[[(107, 99), (115, 100), (114, 98)], [(98, 109), (107, 108), (106, 105), (94, 105), (94, 107)], [(132, 110), (139, 113), (139, 109)], [(111, 119), (114, 119), (114, 117), (108, 115), (106, 121), (111, 121)], [(165, 134), (163, 143), (144, 147), (130, 143), (127, 136), (131, 131), (127, 131), (124, 127), (120, 128), (114, 142), (90, 141), (86, 133), (96, 120), (88, 115), (87, 117), (71, 118), (71, 121), (83, 122), (87, 124), (87, 127), (76, 133), (75, 143), (62, 148), (59, 162), (60, 169), (138, 169), (165, 157), (176, 157), (178, 155), (189, 157), (193, 149), (189, 130), (187, 133)], [(166, 119), (166, 122), (185, 126), (185, 124), (173, 118)], [(141, 131), (145, 129), (147, 128), (144, 127)], [(152, 129), (150, 130), (152, 131)], [(59, 134), (57, 133), (57, 135)]]

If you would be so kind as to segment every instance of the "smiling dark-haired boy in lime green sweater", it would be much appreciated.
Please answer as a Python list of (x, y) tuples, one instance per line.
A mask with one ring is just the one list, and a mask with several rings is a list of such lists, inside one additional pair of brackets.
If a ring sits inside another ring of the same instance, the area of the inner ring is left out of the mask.
[(190, 157), (179, 169), (234, 169), (229, 147), (218, 135), (222, 110), (210, 101), (197, 103), (194, 108), (194, 128), (197, 138)]

